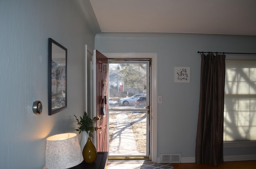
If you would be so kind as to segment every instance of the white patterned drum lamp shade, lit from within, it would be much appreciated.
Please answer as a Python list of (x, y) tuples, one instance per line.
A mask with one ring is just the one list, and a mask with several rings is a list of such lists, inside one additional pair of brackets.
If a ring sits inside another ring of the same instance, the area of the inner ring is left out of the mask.
[(64, 133), (46, 139), (45, 167), (67, 169), (84, 160), (76, 133)]

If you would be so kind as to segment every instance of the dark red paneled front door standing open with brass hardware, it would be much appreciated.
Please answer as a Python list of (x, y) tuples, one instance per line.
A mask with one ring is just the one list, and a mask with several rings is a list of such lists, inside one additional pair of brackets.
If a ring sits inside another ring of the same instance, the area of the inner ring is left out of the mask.
[(94, 70), (96, 73), (94, 114), (96, 110), (97, 151), (100, 152), (108, 151), (108, 58), (97, 50), (94, 50)]

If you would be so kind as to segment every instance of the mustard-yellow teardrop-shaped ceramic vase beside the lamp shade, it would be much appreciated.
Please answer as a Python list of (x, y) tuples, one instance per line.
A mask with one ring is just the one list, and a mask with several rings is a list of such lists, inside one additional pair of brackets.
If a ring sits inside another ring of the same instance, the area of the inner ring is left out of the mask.
[(93, 145), (90, 137), (88, 137), (88, 140), (84, 145), (83, 157), (86, 163), (93, 163), (96, 160), (97, 150)]

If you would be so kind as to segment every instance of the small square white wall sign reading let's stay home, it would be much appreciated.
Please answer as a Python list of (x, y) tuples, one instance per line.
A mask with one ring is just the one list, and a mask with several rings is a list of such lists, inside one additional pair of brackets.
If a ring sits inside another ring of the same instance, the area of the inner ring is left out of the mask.
[(175, 67), (174, 68), (175, 83), (190, 83), (190, 67)]

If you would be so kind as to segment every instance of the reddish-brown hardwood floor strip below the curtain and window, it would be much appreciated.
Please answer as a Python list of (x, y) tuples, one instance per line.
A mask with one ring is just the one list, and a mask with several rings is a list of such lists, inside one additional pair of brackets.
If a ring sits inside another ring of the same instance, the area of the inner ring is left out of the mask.
[(252, 161), (227, 161), (218, 167), (211, 164), (173, 163), (174, 169), (256, 169), (256, 160)]

